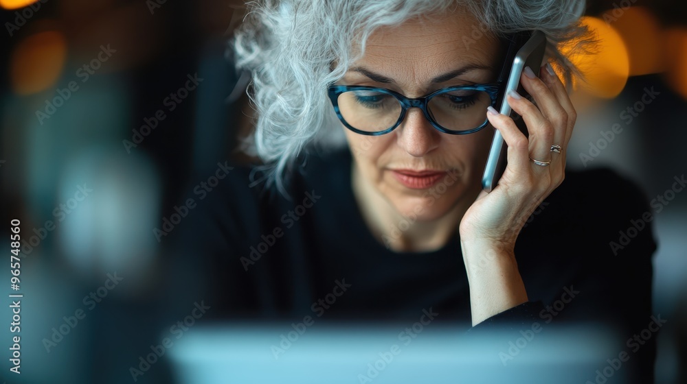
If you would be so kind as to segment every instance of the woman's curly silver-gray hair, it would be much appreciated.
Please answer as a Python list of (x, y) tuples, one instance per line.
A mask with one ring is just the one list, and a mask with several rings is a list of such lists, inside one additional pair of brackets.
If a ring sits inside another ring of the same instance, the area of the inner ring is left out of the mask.
[[(251, 71), (251, 103), (257, 112), (249, 149), (264, 161), (268, 184), (282, 176), (306, 145), (342, 145), (345, 138), (327, 96), (365, 51), (374, 29), (415, 16), (463, 6), (480, 21), (480, 33), (506, 36), (539, 29), (547, 56), (570, 84), (578, 71), (561, 47), (591, 42), (579, 23), (585, 0), (261, 0), (247, 4), (247, 16), (230, 42), (238, 69)], [(586, 37), (585, 37), (586, 36)], [(574, 48), (574, 47), (573, 47)], [(571, 52), (576, 49), (571, 49)], [(337, 65), (332, 66), (333, 63)]]

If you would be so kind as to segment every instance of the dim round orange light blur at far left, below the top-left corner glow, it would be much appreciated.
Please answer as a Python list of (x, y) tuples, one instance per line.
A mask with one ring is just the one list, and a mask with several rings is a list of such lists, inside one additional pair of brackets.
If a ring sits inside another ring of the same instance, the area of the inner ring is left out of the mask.
[(19, 95), (30, 95), (54, 84), (67, 58), (67, 42), (60, 32), (41, 32), (25, 38), (10, 59), (10, 84)]

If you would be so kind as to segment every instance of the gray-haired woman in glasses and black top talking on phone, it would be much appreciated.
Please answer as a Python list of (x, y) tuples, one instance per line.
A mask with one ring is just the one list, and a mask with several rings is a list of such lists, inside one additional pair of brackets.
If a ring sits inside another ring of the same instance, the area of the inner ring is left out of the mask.
[[(584, 5), (252, 5), (235, 60), (253, 72), (252, 139), (279, 193), (237, 166), (199, 204), (207, 213), (183, 224), (198, 231), (193, 243), (207, 257), (194, 265), (209, 276), (205, 292), (217, 293), (218, 312), (398, 320), (431, 308), (476, 328), (549, 318), (609, 324), (622, 341), (646, 328), (651, 231), (622, 254), (609, 248), (648, 211), (642, 193), (609, 171), (565, 174), (576, 112), (551, 64), (570, 80), (574, 68), (559, 47), (584, 37)], [(521, 77), (532, 101), (506, 95), (526, 136), (482, 104), (491, 95), (479, 87), (508, 64), (504, 37), (533, 29), (548, 46), (543, 67)], [(396, 101), (432, 94), (426, 111), (403, 115)], [(441, 113), (459, 122), (440, 121)], [(480, 180), (494, 130), (508, 145), (508, 166), (486, 193)], [(336, 287), (346, 289), (335, 302), (317, 304)], [(554, 311), (555, 302), (565, 308)], [(642, 383), (653, 380), (653, 348), (648, 341), (633, 355)]]

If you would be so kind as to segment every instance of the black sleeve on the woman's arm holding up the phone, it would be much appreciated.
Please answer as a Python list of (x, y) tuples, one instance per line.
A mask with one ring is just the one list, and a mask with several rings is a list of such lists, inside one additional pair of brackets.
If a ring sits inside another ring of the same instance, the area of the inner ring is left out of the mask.
[[(611, 171), (573, 173), (565, 183), (521, 232), (523, 241), (516, 247), (531, 301), (468, 333), (504, 335), (495, 343), (496, 353), (532, 324), (542, 326), (539, 339), (548, 337), (549, 328), (570, 329), (572, 337), (589, 345), (600, 342), (594, 335), (608, 336), (600, 345), (607, 359), (589, 364), (580, 376), (583, 382), (594, 383), (600, 374), (598, 380), (608, 383), (653, 383), (656, 331), (665, 322), (652, 313), (651, 304), (654, 213), (635, 184)], [(574, 335), (578, 325), (595, 332)]]

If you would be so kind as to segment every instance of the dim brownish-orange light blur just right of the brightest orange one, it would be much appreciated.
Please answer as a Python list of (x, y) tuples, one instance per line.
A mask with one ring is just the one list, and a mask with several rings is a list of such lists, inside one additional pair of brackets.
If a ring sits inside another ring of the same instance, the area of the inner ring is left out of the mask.
[(665, 70), (661, 31), (655, 16), (642, 7), (615, 8), (602, 18), (620, 33), (630, 58), (630, 75), (646, 75)]

